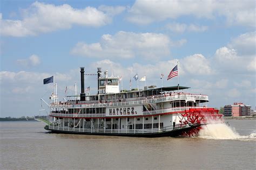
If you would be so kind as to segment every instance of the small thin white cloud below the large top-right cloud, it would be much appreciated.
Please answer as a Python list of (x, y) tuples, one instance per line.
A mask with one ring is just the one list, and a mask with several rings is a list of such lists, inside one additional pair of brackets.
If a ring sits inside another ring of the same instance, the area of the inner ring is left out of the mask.
[(166, 29), (173, 31), (173, 32), (178, 32), (178, 33), (183, 33), (185, 31), (191, 31), (191, 32), (204, 32), (208, 29), (207, 26), (200, 26), (200, 25), (195, 25), (195, 24), (184, 24), (184, 23), (169, 23), (166, 24)]

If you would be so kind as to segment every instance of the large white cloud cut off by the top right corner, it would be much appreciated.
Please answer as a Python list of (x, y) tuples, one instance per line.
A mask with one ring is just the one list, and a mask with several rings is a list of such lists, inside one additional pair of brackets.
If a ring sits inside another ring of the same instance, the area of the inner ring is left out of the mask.
[(255, 27), (254, 1), (147, 1), (137, 0), (127, 19), (137, 24), (149, 24), (181, 16), (197, 18), (225, 17), (228, 24)]

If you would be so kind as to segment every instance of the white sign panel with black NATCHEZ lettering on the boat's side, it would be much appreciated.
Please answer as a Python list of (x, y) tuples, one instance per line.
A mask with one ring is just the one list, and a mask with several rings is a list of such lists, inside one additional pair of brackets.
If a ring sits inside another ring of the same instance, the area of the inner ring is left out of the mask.
[(143, 115), (141, 106), (113, 107), (106, 109), (106, 116), (140, 116)]

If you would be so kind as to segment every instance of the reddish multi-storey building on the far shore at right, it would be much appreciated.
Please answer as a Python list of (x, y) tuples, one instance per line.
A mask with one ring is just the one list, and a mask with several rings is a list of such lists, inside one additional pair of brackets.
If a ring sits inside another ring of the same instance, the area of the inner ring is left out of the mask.
[(252, 109), (250, 105), (246, 105), (244, 103), (225, 105), (224, 116), (252, 116)]

